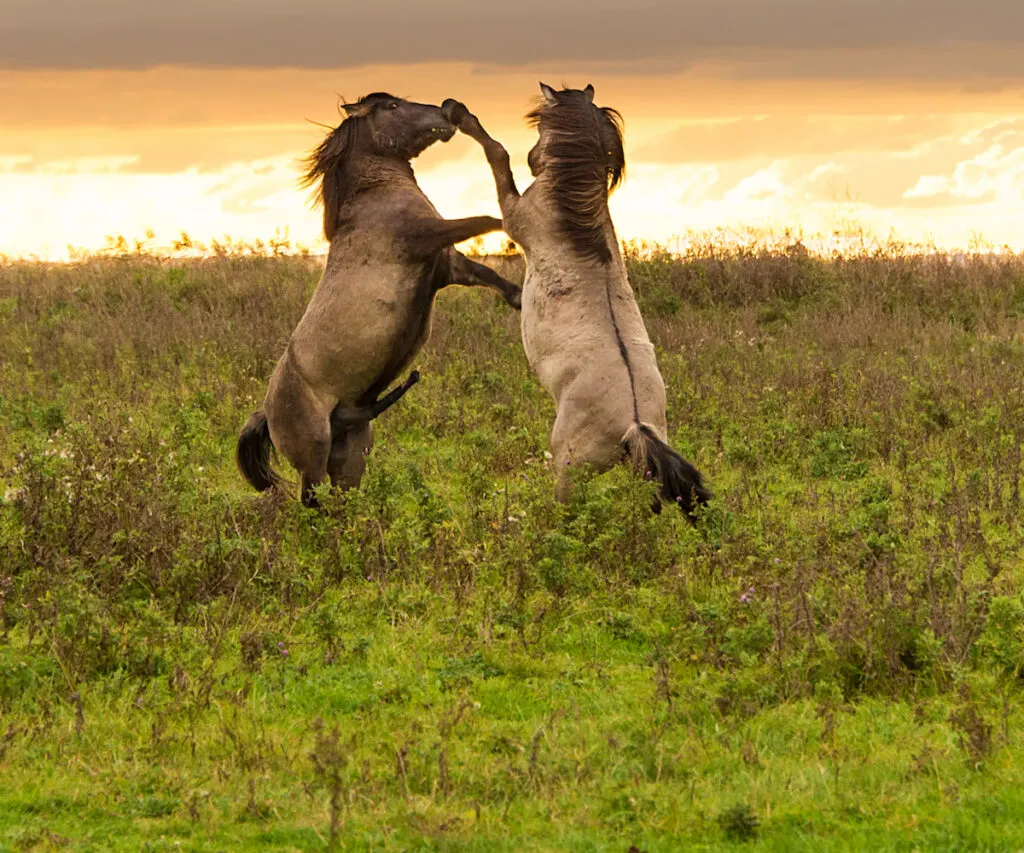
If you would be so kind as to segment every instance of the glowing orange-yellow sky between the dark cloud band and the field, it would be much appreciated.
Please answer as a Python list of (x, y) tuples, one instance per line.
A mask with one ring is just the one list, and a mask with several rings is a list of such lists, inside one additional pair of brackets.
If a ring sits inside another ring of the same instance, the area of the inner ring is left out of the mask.
[[(991, 63), (1000, 49), (968, 45), (958, 61), (981, 68), (980, 57)], [(797, 65), (783, 61), (788, 55), (772, 54), (756, 74), (749, 57), (666, 68), (0, 61), (0, 254), (60, 258), (69, 245), (95, 249), (108, 236), (131, 240), (146, 229), (160, 245), (182, 230), (209, 241), (287, 229), (321, 248), (319, 215), (297, 186), (297, 160), (324, 133), (312, 122), (339, 121), (339, 94), (458, 97), (506, 144), (525, 185), (534, 134), (522, 116), (538, 79), (593, 83), (597, 101), (623, 113), (628, 175), (612, 215), (624, 239), (675, 246), (693, 230), (854, 224), (941, 247), (981, 237), (1024, 249), (1024, 78), (946, 79), (923, 71), (933, 67), (924, 60), (903, 69), (887, 47), (805, 49)], [(941, 66), (941, 56), (932, 58)], [(888, 70), (842, 71), (871, 67)], [(445, 215), (498, 213), (486, 163), (470, 140), (436, 144), (414, 165)]]

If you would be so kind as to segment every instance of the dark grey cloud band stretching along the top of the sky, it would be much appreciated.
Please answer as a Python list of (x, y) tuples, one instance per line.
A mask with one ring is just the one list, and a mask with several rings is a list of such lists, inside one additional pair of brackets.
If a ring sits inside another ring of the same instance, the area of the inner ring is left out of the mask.
[[(5, 0), (0, 66), (7, 68), (351, 68), (468, 61), (625, 70), (682, 69), (710, 58), (749, 73), (879, 73), (857, 51), (896, 68), (933, 51), (933, 74), (977, 76), (956, 45), (995, 46), (988, 73), (1021, 75), (1019, 0)], [(1001, 46), (1001, 47), (1000, 47)], [(829, 51), (836, 54), (829, 63)], [(909, 51), (909, 53), (907, 52)], [(994, 54), (993, 54), (994, 55)], [(815, 58), (816, 57), (816, 58)], [(943, 62), (942, 59), (945, 59)], [(909, 63), (909, 65), (908, 65)]]

